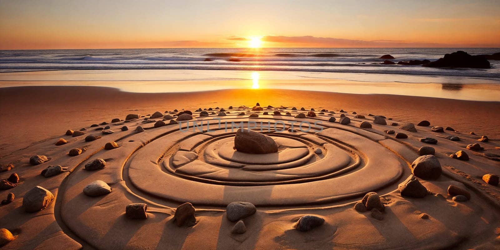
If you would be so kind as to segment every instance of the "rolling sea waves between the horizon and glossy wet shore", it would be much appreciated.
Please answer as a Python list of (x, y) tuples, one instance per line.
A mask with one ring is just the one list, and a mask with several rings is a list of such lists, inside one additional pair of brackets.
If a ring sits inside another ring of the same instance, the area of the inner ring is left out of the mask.
[(442, 69), (421, 65), (383, 65), (392, 61), (435, 60), (464, 50), (491, 54), (499, 48), (152, 48), (0, 50), (0, 72), (55, 69), (274, 70), (459, 76), (500, 80), (498, 62), (490, 69)]

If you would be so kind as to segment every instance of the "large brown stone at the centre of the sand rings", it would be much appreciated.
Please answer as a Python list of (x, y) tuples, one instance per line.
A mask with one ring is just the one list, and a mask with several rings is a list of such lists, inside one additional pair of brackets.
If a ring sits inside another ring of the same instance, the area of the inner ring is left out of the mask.
[(275, 153), (278, 145), (269, 136), (246, 128), (239, 128), (234, 137), (236, 150), (245, 153)]

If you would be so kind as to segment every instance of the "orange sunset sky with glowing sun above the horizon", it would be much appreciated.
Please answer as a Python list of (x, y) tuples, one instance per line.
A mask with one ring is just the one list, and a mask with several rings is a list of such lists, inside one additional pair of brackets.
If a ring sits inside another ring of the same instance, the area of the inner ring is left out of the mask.
[(0, 49), (500, 47), (498, 0), (0, 0)]

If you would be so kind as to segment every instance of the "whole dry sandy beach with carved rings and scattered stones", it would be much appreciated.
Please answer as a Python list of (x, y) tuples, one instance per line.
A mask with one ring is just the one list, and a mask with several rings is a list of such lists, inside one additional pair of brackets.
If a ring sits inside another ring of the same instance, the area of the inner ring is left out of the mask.
[[(14, 166), (0, 176), (19, 178), (0, 192), (16, 197), (0, 209), (15, 238), (2, 249), (500, 243), (500, 189), (483, 180), (498, 174), (499, 102), (283, 89), (30, 86), (0, 94), (0, 163)], [(219, 119), (251, 127), (276, 149), (244, 152), (251, 140), (238, 141), (238, 128)], [(25, 200), (35, 185), (46, 202), (32, 213)]]

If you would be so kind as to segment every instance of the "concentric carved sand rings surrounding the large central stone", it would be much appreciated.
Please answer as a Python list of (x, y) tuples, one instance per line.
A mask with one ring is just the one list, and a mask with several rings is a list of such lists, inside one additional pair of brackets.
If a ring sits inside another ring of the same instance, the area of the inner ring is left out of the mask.
[[(248, 118), (248, 109), (231, 111), (247, 114), (197, 117), (153, 128), (148, 143), (125, 164), (131, 183), (148, 194), (193, 204), (246, 200), (255, 205), (296, 205), (359, 196), (401, 176), (402, 161), (374, 141), (383, 136), (366, 137), (367, 131), (351, 126), (344, 130), (343, 125), (328, 122), (329, 116), (300, 119), (258, 112), (259, 117)], [(221, 118), (220, 125), (213, 118)], [(291, 121), (295, 131), (288, 130)], [(303, 130), (297, 130), (299, 122), (309, 122), (311, 129), (307, 131), (303, 123)], [(278, 152), (236, 151), (235, 126), (252, 126), (271, 136)], [(322, 153), (315, 153), (317, 148)]]

